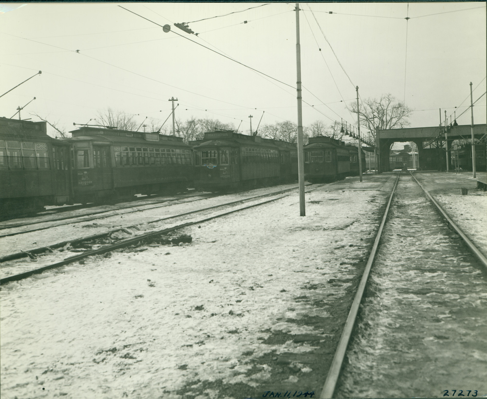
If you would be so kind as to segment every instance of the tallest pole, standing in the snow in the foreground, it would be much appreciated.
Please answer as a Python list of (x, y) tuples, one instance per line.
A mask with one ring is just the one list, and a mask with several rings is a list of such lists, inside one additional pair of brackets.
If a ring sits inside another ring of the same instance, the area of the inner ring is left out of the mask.
[(301, 45), (300, 45), (300, 4), (296, 3), (296, 75), (298, 99), (298, 178), (300, 186), (300, 216), (306, 216), (304, 205), (304, 152), (303, 152), (303, 121), (301, 105)]

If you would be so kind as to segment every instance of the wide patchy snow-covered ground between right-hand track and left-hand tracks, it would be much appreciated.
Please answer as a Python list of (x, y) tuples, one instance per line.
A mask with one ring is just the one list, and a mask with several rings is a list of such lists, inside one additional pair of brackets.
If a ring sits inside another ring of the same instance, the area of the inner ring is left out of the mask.
[(336, 342), (394, 180), (318, 188), (306, 217), (294, 192), (185, 228), (188, 246), (2, 285), (2, 397), (250, 398), (271, 383), (318, 397), (321, 363), (276, 362)]

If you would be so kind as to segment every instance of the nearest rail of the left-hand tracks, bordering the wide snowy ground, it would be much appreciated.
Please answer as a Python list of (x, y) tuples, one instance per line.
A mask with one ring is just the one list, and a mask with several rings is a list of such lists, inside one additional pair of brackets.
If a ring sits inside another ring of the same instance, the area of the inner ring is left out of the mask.
[(127, 247), (127, 246), (129, 246), (131, 244), (136, 244), (136, 243), (138, 243), (138, 242), (140, 242), (142, 240), (145, 240), (145, 239), (148, 239), (148, 238), (152, 238), (152, 237), (155, 237), (155, 236), (160, 235), (160, 234), (167, 234), (167, 233), (169, 233), (171, 231), (174, 231), (174, 230), (177, 230), (179, 228), (184, 228), (184, 227), (193, 226), (193, 225), (196, 225), (196, 224), (199, 224), (199, 223), (204, 223), (204, 222), (207, 222), (209, 220), (216, 219), (216, 218), (219, 218), (219, 217), (228, 215), (230, 213), (234, 213), (234, 212), (238, 212), (238, 211), (241, 211), (241, 210), (244, 210), (244, 209), (249, 209), (249, 208), (257, 207), (259, 205), (267, 204), (269, 202), (273, 202), (273, 201), (276, 201), (278, 199), (285, 198), (285, 197), (286, 197), (286, 195), (283, 195), (281, 197), (272, 198), (270, 200), (262, 201), (262, 202), (259, 202), (257, 204), (248, 205), (248, 206), (243, 207), (243, 208), (232, 209), (232, 210), (229, 210), (227, 212), (220, 213), (218, 215), (213, 215), (213, 216), (207, 217), (205, 219), (197, 220), (195, 222), (188, 222), (188, 223), (184, 223), (182, 225), (174, 226), (174, 227), (171, 227), (171, 228), (164, 228), (162, 230), (151, 231), (151, 232), (146, 233), (146, 234), (141, 234), (141, 235), (138, 235), (136, 237), (128, 238), (128, 239), (123, 240), (123, 241), (120, 241), (120, 242), (118, 242), (116, 244), (108, 245), (106, 247), (101, 247), (101, 248), (98, 248), (98, 249), (93, 249), (91, 251), (86, 251), (86, 252), (83, 252), (83, 253), (81, 253), (79, 255), (70, 256), (69, 258), (66, 258), (66, 259), (64, 259), (64, 260), (62, 260), (60, 262), (53, 263), (51, 265), (39, 267), (37, 269), (33, 269), (33, 270), (29, 270), (29, 271), (26, 271), (26, 272), (23, 272), (23, 273), (14, 274), (12, 276), (4, 277), (4, 278), (0, 279), (0, 285), (1, 284), (5, 284), (5, 283), (9, 283), (9, 282), (12, 282), (12, 281), (19, 281), (19, 280), (25, 279), (27, 277), (30, 277), (33, 274), (41, 273), (41, 272), (43, 272), (45, 270), (49, 270), (49, 269), (53, 269), (53, 268), (56, 268), (56, 267), (65, 266), (65, 265), (68, 265), (68, 264), (73, 263), (73, 262), (77, 262), (77, 261), (79, 261), (81, 259), (87, 258), (88, 256), (101, 255), (101, 254), (106, 253), (106, 252), (111, 252), (111, 251), (113, 251), (115, 249), (119, 249), (119, 248), (122, 248), (122, 247)]

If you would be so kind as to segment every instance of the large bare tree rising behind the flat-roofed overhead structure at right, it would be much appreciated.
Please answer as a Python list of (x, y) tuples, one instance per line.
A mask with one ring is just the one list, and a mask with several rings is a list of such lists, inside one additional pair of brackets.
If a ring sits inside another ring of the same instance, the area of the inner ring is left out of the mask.
[[(357, 104), (350, 104), (350, 110), (356, 114)], [(367, 98), (359, 106), (360, 124), (374, 132), (379, 129), (403, 128), (409, 126), (408, 117), (412, 109), (398, 101), (392, 94), (383, 94), (379, 99)]]

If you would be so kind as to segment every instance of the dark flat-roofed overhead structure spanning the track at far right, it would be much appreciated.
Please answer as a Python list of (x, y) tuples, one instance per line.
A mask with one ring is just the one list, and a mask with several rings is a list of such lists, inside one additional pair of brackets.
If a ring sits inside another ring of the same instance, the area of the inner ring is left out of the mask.
[[(432, 126), (424, 128), (403, 128), (376, 130), (376, 141), (379, 149), (379, 170), (390, 171), (389, 152), (394, 142), (412, 141), (418, 148), (419, 169), (423, 171), (441, 171), (446, 169), (446, 153), (451, 151), (454, 140), (471, 140), (471, 126), (458, 125)], [(473, 134), (476, 139), (485, 143), (487, 125), (475, 125)], [(483, 144), (485, 150), (485, 144)], [(451, 160), (451, 156), (449, 156)], [(450, 161), (451, 162), (451, 161)]]

